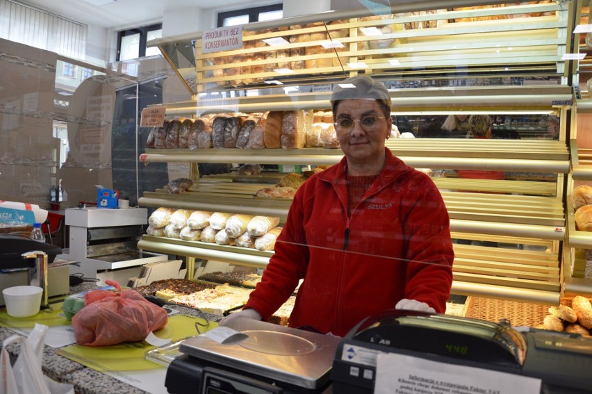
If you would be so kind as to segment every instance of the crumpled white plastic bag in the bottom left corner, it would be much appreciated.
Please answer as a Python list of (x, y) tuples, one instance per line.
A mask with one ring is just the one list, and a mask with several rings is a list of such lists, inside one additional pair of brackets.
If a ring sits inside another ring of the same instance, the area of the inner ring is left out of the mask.
[[(0, 354), (0, 394), (74, 394), (72, 384), (58, 383), (43, 375), (41, 362), (47, 326), (35, 324), (28, 338), (13, 335), (6, 338)], [(14, 366), (6, 346), (19, 343), (21, 351)]]

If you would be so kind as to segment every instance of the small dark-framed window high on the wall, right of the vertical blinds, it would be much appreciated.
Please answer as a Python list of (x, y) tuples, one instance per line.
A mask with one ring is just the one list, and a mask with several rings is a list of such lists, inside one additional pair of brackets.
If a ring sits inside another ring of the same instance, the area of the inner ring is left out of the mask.
[(161, 54), (158, 48), (147, 48), (149, 40), (163, 36), (163, 24), (153, 24), (117, 33), (117, 61)]

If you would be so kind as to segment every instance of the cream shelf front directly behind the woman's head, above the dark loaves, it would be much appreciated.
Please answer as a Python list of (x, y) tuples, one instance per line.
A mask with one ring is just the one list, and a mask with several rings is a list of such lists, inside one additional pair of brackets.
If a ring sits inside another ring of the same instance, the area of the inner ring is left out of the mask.
[[(380, 74), (372, 78), (389, 83), (390, 79)], [(340, 79), (341, 80), (341, 79)], [(553, 102), (573, 99), (572, 88), (563, 85), (512, 85), (512, 86), (462, 86), (443, 88), (390, 89), (393, 115), (409, 112), (447, 114), (453, 110), (479, 111), (507, 115), (534, 113), (557, 113)], [(332, 86), (331, 89), (332, 90)], [(265, 95), (247, 97), (207, 97), (204, 100), (180, 101), (174, 104), (154, 104), (150, 107), (165, 107), (166, 115), (191, 116), (207, 113), (258, 113), (267, 110), (328, 110), (331, 108), (331, 92), (265, 92)], [(516, 108), (520, 108), (517, 110)]]

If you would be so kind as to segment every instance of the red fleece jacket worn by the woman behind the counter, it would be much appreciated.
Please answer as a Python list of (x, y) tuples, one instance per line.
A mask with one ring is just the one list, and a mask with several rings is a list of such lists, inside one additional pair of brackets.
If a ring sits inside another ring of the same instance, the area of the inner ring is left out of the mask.
[(351, 217), (345, 158), (300, 186), (245, 308), (267, 320), (304, 279), (291, 327), (345, 336), (402, 298), (445, 311), (454, 260), (446, 207), (426, 174), (385, 150), (381, 174)]

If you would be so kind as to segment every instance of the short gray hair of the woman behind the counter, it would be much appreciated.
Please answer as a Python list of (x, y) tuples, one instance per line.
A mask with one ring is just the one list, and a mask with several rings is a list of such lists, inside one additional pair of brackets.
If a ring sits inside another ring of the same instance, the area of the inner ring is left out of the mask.
[[(341, 85), (352, 85), (350, 88), (343, 88)], [(374, 81), (368, 76), (352, 76), (340, 82), (331, 94), (331, 108), (333, 108), (333, 117), (337, 115), (337, 106), (343, 100), (375, 99), (378, 101), (385, 117), (390, 117), (390, 94), (386, 86)]]

